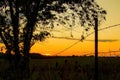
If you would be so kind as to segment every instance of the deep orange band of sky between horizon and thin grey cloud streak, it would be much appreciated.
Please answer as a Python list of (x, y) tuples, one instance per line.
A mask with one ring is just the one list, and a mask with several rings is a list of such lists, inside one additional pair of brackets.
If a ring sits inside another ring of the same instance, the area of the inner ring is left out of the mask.
[[(63, 51), (68, 48), (77, 40), (66, 40), (66, 39), (47, 39), (45, 42), (37, 42), (31, 49), (31, 52), (41, 53), (41, 54), (51, 54), (51, 55), (93, 55), (94, 53), (94, 41), (83, 41), (79, 42), (68, 50)], [(99, 52), (109, 52), (118, 51), (120, 48), (120, 41), (113, 42), (99, 42)], [(114, 53), (118, 54), (118, 52)], [(113, 54), (113, 55), (114, 55)], [(100, 55), (104, 55), (100, 53)], [(106, 53), (109, 55), (109, 53)]]

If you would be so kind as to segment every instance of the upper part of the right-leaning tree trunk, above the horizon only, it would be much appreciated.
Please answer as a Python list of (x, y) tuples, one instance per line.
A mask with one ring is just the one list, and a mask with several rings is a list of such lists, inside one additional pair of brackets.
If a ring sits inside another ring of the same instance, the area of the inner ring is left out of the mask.
[(24, 33), (25, 39), (24, 39), (24, 50), (23, 50), (23, 53), (26, 56), (29, 56), (29, 50), (30, 50), (30, 45), (31, 45), (30, 42), (32, 39), (32, 35), (33, 35), (35, 23), (36, 23), (36, 18), (37, 18), (37, 14), (39, 10), (39, 4), (40, 4), (40, 0), (36, 0), (36, 5), (33, 8), (33, 12), (30, 12), (30, 13), (28, 12), (28, 14), (30, 15), (27, 15), (28, 23), (26, 25), (26, 29)]

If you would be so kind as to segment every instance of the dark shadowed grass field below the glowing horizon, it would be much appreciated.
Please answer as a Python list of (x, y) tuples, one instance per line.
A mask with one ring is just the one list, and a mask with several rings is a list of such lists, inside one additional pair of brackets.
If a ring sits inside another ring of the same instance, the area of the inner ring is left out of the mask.
[[(1, 58), (0, 80), (10, 80), (8, 66)], [(32, 58), (29, 67), (28, 80), (94, 80), (94, 57)], [(99, 57), (99, 80), (120, 80), (119, 57)]]

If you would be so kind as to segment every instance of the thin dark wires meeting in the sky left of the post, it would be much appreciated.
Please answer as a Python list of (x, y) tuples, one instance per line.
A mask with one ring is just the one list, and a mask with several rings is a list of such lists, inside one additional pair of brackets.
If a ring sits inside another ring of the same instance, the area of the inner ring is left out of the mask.
[[(102, 31), (102, 30), (109, 29), (109, 28), (116, 27), (116, 26), (120, 26), (120, 24), (115, 24), (115, 25), (112, 25), (112, 26), (104, 27), (104, 28), (98, 29), (98, 31)], [(94, 31), (91, 32), (91, 33), (89, 33), (88, 35), (84, 36), (84, 39), (83, 39), (83, 38), (81, 38), (81, 39), (74, 39), (74, 38), (54, 37), (54, 36), (52, 36), (52, 38), (78, 40), (78, 41), (76, 41), (75, 43), (73, 43), (72, 45), (70, 45), (69, 47), (63, 49), (62, 51), (60, 51), (60, 52), (58, 52), (58, 53), (56, 53), (56, 54), (54, 54), (54, 55), (58, 55), (58, 54), (61, 54), (61, 53), (65, 52), (66, 50), (70, 49), (70, 48), (73, 47), (74, 45), (78, 44), (80, 41), (83, 42), (83, 40), (85, 40), (87, 37), (89, 37), (89, 36), (92, 35), (93, 33), (94, 33)]]

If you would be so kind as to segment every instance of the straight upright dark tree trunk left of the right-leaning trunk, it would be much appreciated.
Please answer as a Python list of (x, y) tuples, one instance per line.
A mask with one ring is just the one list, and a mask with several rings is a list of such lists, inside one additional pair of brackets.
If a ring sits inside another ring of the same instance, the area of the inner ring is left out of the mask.
[[(14, 80), (17, 80), (18, 76), (21, 74), (20, 70), (20, 48), (19, 48), (19, 0), (15, 1), (15, 5), (13, 6), (13, 0), (8, 0), (10, 5), (10, 14), (12, 19), (12, 27), (13, 27), (13, 50), (15, 53), (15, 59), (13, 64), (13, 73)], [(15, 10), (14, 10), (15, 8)]]

